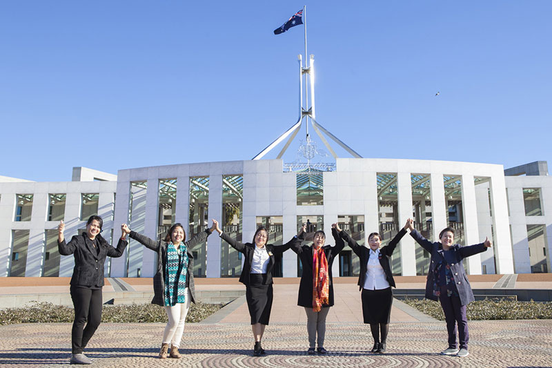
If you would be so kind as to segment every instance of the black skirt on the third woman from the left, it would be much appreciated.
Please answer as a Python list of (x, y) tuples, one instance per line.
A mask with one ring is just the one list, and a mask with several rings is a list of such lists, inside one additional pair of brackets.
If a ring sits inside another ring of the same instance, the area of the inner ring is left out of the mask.
[(250, 273), (249, 286), (246, 287), (246, 300), (251, 317), (251, 325), (268, 325), (272, 309), (272, 284), (266, 285), (266, 273)]

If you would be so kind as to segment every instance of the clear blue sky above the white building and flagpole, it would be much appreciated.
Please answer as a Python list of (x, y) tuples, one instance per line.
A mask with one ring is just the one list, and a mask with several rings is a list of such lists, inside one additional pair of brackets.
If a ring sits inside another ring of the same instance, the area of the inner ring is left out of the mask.
[(303, 5), (363, 157), (552, 166), (552, 1), (3, 0), (0, 175), (250, 159), (297, 119)]

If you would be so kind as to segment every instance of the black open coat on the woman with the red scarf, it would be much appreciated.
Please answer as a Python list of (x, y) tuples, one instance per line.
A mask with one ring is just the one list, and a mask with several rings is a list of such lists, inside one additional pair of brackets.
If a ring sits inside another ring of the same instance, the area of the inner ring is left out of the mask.
[[(342, 238), (339, 237), (337, 230), (332, 229), (332, 235), (335, 239), (335, 246), (325, 245), (322, 247), (324, 249), (324, 254), (326, 255), (326, 260), (328, 260), (328, 273), (329, 273), (329, 298), (328, 304), (322, 305), (322, 307), (331, 307), (333, 306), (333, 275), (332, 275), (332, 264), (333, 260), (339, 252), (345, 246)], [(302, 239), (304, 234), (300, 234), (299, 238)], [(301, 307), (313, 307), (313, 246), (310, 245), (301, 245), (300, 242), (297, 242), (291, 246), (291, 250), (299, 255), (299, 259), (303, 264), (303, 274), (301, 275), (301, 282), (299, 283), (299, 295), (297, 296), (297, 305)]]

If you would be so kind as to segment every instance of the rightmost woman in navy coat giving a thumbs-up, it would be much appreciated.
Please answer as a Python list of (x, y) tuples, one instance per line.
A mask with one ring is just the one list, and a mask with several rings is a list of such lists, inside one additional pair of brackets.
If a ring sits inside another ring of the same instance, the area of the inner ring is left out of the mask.
[[(426, 298), (439, 300), (444, 311), (446, 330), (449, 333), (449, 347), (441, 354), (468, 356), (468, 318), (466, 306), (473, 302), (473, 291), (464, 271), (462, 260), (491, 247), (489, 238), (480, 244), (461, 246), (454, 244), (454, 230), (446, 227), (439, 234), (440, 242), (430, 242), (414, 229), (413, 220), (409, 220), (410, 235), (426, 251), (431, 253), (431, 263), (426, 282)], [(460, 349), (456, 344), (456, 330)]]

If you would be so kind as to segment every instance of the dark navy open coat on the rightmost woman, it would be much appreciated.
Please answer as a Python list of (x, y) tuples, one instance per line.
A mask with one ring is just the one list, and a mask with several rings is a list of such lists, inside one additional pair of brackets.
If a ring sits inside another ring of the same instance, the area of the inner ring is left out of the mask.
[(443, 250), (443, 244), (441, 242), (430, 242), (422, 236), (416, 230), (411, 231), (410, 235), (423, 249), (431, 253), (431, 263), (429, 264), (429, 271), (426, 281), (426, 298), (431, 300), (439, 300), (437, 296), (433, 295), (433, 287), (435, 284), (435, 267), (439, 262), (443, 261), (444, 264), (449, 264), (453, 273), (454, 284), (460, 296), (460, 302), (462, 305), (466, 305), (469, 302), (473, 302), (473, 291), (471, 290), (468, 276), (464, 271), (464, 264), (462, 260), (477, 253), (486, 251), (486, 246), (483, 243), (473, 244), (469, 246), (461, 246), (460, 244), (454, 244), (449, 251)]

